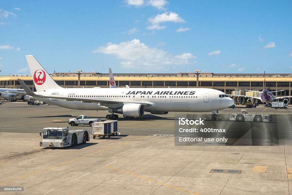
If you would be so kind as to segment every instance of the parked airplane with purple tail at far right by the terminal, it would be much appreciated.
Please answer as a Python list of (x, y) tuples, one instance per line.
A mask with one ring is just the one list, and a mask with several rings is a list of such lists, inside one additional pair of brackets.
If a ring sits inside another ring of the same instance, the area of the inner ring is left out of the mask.
[[(257, 92), (257, 91), (252, 91), (252, 90), (247, 90), (246, 91), (250, 91), (250, 92)], [(284, 91), (284, 90), (278, 90), (278, 91), (268, 91), (266, 89), (266, 71), (264, 71), (264, 88), (263, 88), (263, 91), (261, 92), (257, 92), (257, 93), (260, 93), (260, 97), (256, 97), (256, 96), (244, 96), (244, 95), (231, 95), (231, 96), (238, 96), (238, 97), (248, 97), (248, 98), (254, 98), (254, 99), (259, 99), (261, 102), (263, 103), (267, 103), (267, 102), (272, 102), (274, 100), (277, 100), (277, 99), (283, 99), (284, 103), (289, 103), (289, 100), (286, 99), (286, 98), (290, 98), (292, 96), (281, 96), (281, 97), (276, 97), (274, 96), (272, 93), (274, 92), (281, 92), (281, 91)]]

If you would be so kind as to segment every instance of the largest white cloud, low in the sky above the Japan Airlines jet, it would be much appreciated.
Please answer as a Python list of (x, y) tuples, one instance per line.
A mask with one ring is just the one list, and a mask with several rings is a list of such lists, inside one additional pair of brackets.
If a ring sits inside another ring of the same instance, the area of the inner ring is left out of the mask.
[(196, 58), (191, 53), (173, 56), (167, 51), (151, 48), (139, 39), (121, 42), (119, 44), (108, 43), (106, 46), (98, 47), (93, 53), (114, 54), (121, 59), (122, 68), (137, 68), (144, 70), (161, 70), (164, 65), (186, 65), (194, 64), (192, 59)]

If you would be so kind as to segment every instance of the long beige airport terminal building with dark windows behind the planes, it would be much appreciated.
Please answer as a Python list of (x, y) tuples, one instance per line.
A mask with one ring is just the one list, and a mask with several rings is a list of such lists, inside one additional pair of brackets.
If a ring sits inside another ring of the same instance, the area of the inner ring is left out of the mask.
[[(77, 73), (53, 73), (52, 78), (61, 87), (78, 87)], [(20, 89), (18, 78), (22, 79), (33, 91), (31, 75), (0, 75), (0, 88)], [(224, 74), (224, 73), (131, 73), (114, 74), (117, 87), (198, 87), (217, 89), (226, 94), (245, 94), (245, 90), (263, 90), (264, 74)], [(80, 87), (109, 87), (109, 74), (80, 73)], [(276, 96), (291, 96), (292, 74), (266, 74), (266, 88)], [(248, 94), (256, 96), (257, 94)], [(292, 98), (289, 99), (291, 102)], [(241, 101), (241, 100), (240, 100)], [(281, 101), (281, 99), (280, 99)]]

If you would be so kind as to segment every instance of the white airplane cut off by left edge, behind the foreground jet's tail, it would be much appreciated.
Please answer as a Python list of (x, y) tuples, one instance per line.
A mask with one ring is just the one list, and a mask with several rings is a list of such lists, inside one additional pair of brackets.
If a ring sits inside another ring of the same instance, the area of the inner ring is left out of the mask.
[[(21, 92), (21, 94), (19, 94)], [(20, 99), (23, 101), (29, 101), (30, 97), (25, 93), (24, 89), (8, 89), (8, 88), (0, 88), (0, 98), (11, 99), (12, 101), (16, 101), (16, 99)]]

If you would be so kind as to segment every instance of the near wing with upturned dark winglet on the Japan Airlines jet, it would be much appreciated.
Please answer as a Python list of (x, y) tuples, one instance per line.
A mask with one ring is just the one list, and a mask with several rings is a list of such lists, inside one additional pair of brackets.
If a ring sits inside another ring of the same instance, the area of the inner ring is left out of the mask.
[[(21, 80), (18, 79), (20, 84), (22, 85), (22, 88), (27, 92), (27, 95), (33, 96), (33, 97), (39, 97), (39, 98), (52, 98), (52, 99), (65, 99), (67, 101), (82, 101), (86, 103), (99, 103), (101, 106), (107, 106), (109, 108), (112, 108), (114, 105), (121, 105), (121, 104), (127, 104), (127, 103), (140, 103), (144, 106), (151, 106), (152, 104), (150, 102), (125, 102), (125, 101), (115, 101), (115, 100), (104, 100), (104, 99), (87, 99), (87, 98), (79, 98), (79, 97), (55, 97), (55, 96), (44, 96), (35, 94), (29, 87)], [(114, 106), (116, 107), (116, 106)]]

